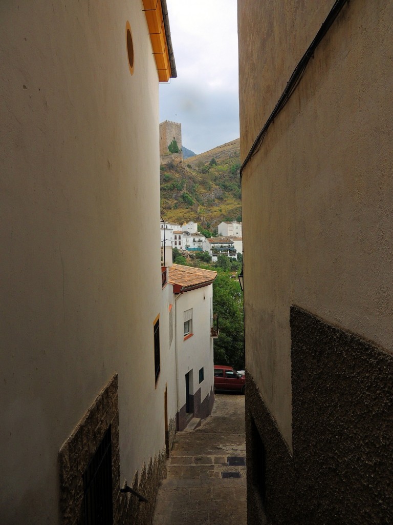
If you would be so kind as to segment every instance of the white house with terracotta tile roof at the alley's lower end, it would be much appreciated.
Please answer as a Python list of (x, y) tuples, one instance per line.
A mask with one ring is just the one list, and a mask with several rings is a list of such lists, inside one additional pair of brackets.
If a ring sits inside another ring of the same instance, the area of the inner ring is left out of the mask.
[(174, 264), (169, 267), (169, 340), (176, 361), (176, 425), (207, 417), (214, 403), (213, 281), (217, 272)]

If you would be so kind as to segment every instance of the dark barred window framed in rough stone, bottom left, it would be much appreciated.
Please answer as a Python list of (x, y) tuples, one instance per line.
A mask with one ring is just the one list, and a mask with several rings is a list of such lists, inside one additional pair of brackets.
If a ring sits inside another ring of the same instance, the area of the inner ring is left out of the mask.
[(85, 525), (112, 525), (111, 426), (83, 474)]

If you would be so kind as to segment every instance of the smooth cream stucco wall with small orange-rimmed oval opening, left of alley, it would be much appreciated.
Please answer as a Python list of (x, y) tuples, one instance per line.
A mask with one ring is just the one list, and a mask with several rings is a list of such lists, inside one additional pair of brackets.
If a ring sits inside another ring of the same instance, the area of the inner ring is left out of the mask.
[(139, 0), (7, 0), (0, 55), (0, 521), (57, 523), (58, 450), (115, 372), (121, 483), (165, 443), (158, 78)]

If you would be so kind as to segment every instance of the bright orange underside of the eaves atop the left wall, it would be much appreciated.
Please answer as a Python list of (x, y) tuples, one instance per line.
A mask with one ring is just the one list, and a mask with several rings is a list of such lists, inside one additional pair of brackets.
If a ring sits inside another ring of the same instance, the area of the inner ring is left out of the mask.
[(160, 0), (143, 0), (145, 16), (149, 28), (151, 46), (156, 60), (159, 82), (168, 82), (171, 77), (167, 36), (163, 23)]

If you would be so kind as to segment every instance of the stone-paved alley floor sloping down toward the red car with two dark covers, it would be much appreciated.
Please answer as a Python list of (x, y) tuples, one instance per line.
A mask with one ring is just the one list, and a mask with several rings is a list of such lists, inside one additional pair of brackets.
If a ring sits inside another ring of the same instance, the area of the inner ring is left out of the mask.
[(244, 525), (245, 457), (244, 396), (216, 394), (212, 415), (176, 435), (154, 525)]

